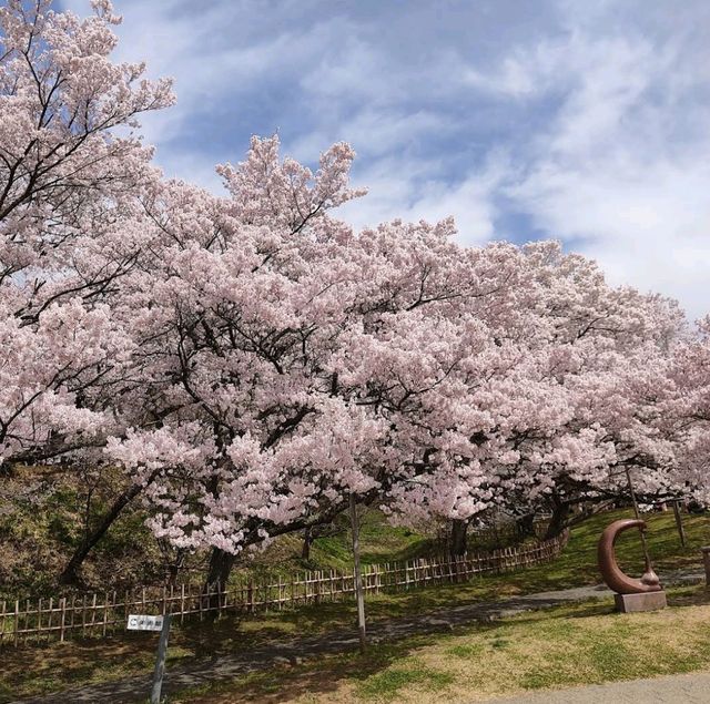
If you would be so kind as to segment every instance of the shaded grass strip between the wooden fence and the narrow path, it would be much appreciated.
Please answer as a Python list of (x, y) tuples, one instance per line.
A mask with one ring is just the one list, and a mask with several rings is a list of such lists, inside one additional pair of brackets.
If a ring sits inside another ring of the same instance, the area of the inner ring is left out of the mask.
[[(596, 583), (599, 580), (595, 561), (596, 541), (602, 528), (621, 516), (627, 517), (628, 511), (595, 517), (576, 528), (565, 553), (551, 564), (506, 575), (480, 578), (463, 585), (444, 585), (404, 594), (372, 596), (367, 601), (368, 618), (379, 620), (405, 614), (412, 615), (447, 605), (498, 599), (505, 594)], [(672, 513), (656, 513), (648, 518), (649, 544), (661, 572), (679, 567), (700, 568), (699, 548), (701, 544), (710, 544), (710, 518), (684, 517), (684, 520), (689, 544), (687, 549), (682, 550), (679, 545)], [(404, 538), (412, 539), (413, 537), (405, 535)], [(415, 541), (416, 539), (413, 540), (413, 542)], [(638, 535), (629, 533), (622, 535), (618, 548), (620, 561), (627, 571), (639, 574), (642, 564)], [(262, 614), (252, 620), (231, 616), (214, 624), (185, 625), (183, 629), (175, 629), (171, 636), (170, 660), (175, 662), (183, 657), (194, 657), (197, 654), (201, 656), (227, 654), (241, 649), (253, 647), (258, 643), (266, 643), (270, 640), (283, 640), (291, 634), (348, 629), (354, 622), (353, 604), (345, 602)], [(398, 661), (409, 650), (424, 642), (432, 641), (424, 639), (419, 643), (407, 642), (381, 646), (374, 650), (373, 662), (359, 662), (356, 669), (371, 672), (374, 676), (378, 672), (384, 672), (393, 657)], [(0, 683), (3, 683), (0, 685), (0, 693), (3, 693), (6, 701), (9, 701), (12, 698), (12, 693), (19, 695), (62, 690), (84, 682), (100, 682), (138, 672), (148, 672), (154, 643), (153, 636), (131, 634), (100, 642), (70, 642), (44, 649), (7, 650), (3, 652), (4, 659), (0, 665)], [(337, 659), (334, 662), (337, 664)], [(345, 659), (345, 662), (349, 662), (348, 659)], [(679, 667), (683, 666), (681, 661), (678, 662), (680, 663)], [(317, 669), (322, 666), (327, 670), (325, 664), (316, 665)], [(276, 684), (281, 682), (280, 673), (270, 673), (264, 676)], [(397, 680), (399, 675), (395, 673), (387, 676)], [(234, 686), (239, 688), (243, 685), (244, 683), (241, 682)], [(377, 685), (373, 686), (377, 688)], [(2, 696), (0, 696), (0, 701), (2, 701)], [(256, 701), (264, 700), (257, 698)]]

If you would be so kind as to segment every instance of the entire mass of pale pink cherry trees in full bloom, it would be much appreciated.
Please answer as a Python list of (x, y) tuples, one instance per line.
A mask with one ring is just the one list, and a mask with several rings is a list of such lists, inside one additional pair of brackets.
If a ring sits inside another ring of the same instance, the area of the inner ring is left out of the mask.
[(67, 579), (139, 494), (222, 583), (354, 502), (459, 527), (544, 507), (555, 532), (627, 469), (643, 496), (702, 494), (709, 323), (689, 338), (672, 302), (558, 243), (354, 233), (344, 143), (312, 171), (254, 137), (217, 167), (227, 196), (163, 180), (136, 119), (170, 83), (113, 63), (119, 18), (93, 8), (0, 9), (0, 451), (131, 482)]

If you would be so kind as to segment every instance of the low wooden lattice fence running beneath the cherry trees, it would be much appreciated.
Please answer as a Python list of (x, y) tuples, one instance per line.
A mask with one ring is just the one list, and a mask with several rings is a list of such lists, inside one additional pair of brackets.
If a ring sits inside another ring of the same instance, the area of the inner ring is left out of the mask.
[[(464, 582), (476, 574), (500, 573), (554, 560), (565, 548), (568, 533), (536, 545), (505, 548), (488, 553), (422, 558), (363, 568), (366, 592), (407, 591), (417, 586)], [(354, 594), (352, 571), (303, 572), (251, 578), (216, 585), (209, 592), (182, 584), (133, 591), (102, 592), (0, 603), (0, 645), (20, 645), (71, 637), (104, 637), (123, 632), (130, 613), (172, 613), (173, 620), (203, 620), (210, 612), (280, 611), (301, 604), (349, 599)]]

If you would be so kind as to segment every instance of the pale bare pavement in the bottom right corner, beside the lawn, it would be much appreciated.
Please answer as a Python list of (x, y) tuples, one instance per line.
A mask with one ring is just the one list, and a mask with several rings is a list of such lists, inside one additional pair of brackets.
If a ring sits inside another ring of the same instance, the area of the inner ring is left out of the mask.
[(708, 704), (710, 673), (595, 684), (493, 700), (490, 704)]

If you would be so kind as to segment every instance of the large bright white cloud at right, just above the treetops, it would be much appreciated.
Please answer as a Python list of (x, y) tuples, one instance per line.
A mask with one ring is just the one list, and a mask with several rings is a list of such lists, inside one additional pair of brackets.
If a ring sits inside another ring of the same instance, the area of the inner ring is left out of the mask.
[(550, 73), (568, 88), (518, 155), (524, 176), (501, 187), (610, 280), (677, 297), (699, 317), (710, 309), (710, 110), (696, 68), (710, 51), (626, 30), (578, 28), (517, 58), (540, 93), (555, 90)]

